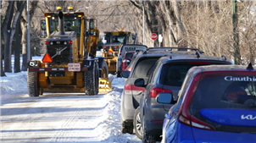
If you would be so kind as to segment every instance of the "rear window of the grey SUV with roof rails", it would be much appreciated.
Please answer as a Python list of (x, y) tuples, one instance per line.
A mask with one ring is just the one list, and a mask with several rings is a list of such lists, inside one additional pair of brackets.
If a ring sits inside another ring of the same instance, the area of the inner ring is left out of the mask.
[(159, 58), (141, 58), (134, 69), (134, 78), (147, 78), (149, 76), (149, 69), (151, 69), (154, 63), (157, 62)]

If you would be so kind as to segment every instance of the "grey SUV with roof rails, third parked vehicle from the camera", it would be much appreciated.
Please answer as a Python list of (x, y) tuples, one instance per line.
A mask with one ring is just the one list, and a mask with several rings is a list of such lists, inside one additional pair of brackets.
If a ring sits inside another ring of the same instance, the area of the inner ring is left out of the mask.
[[(123, 134), (133, 134), (133, 120), (134, 113), (137, 107), (140, 106), (140, 98), (145, 90), (145, 87), (137, 87), (134, 85), (135, 80), (143, 79), (147, 82), (149, 75), (154, 71), (153, 65), (159, 58), (166, 55), (186, 55), (191, 54), (196, 56), (196, 52), (186, 51), (173, 51), (174, 47), (162, 47), (162, 48), (148, 48), (145, 52), (138, 52), (136, 58), (131, 61), (132, 69), (130, 71), (124, 71), (122, 76), (128, 78), (125, 81), (125, 87), (121, 96), (121, 132)], [(183, 48), (184, 49), (184, 48)], [(196, 51), (198, 49), (185, 48), (186, 50)], [(142, 130), (140, 124), (136, 124), (136, 135), (142, 139)]]

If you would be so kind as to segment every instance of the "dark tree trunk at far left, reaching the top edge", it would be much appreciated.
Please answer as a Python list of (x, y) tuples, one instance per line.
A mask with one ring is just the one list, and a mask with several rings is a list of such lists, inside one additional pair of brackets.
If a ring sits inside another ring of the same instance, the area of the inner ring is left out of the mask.
[(12, 72), (12, 47), (9, 47), (10, 25), (14, 14), (14, 0), (9, 0), (7, 13), (3, 20), (3, 37), (4, 37), (4, 71)]

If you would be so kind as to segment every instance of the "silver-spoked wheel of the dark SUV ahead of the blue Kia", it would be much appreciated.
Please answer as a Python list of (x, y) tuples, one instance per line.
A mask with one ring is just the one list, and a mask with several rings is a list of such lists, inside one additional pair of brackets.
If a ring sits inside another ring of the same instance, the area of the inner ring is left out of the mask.
[(136, 136), (142, 140), (143, 129), (142, 129), (142, 119), (141, 119), (141, 115), (140, 115), (140, 107), (137, 107), (136, 111), (134, 113), (133, 127), (134, 127)]

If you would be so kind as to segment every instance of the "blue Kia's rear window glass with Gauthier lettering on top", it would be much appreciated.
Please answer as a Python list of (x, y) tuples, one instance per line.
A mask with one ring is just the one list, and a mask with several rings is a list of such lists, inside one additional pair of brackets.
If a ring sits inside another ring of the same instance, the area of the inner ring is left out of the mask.
[[(254, 81), (231, 80), (233, 76), (203, 79), (192, 99), (192, 108), (256, 109), (256, 78)], [(238, 77), (237, 77), (238, 78)], [(253, 78), (253, 77), (239, 77)]]

